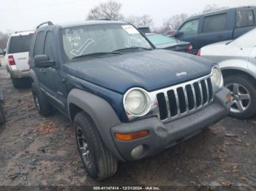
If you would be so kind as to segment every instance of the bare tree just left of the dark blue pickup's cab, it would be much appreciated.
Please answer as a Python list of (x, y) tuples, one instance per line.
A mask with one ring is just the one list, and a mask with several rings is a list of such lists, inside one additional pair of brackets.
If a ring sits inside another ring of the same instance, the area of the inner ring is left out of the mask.
[(181, 24), (185, 20), (187, 20), (188, 17), (189, 17), (189, 15), (187, 15), (186, 13), (181, 13), (179, 15), (173, 15), (172, 17), (170, 17), (168, 20), (165, 21), (165, 23), (164, 23), (165, 30), (178, 29), (178, 27), (181, 26)]

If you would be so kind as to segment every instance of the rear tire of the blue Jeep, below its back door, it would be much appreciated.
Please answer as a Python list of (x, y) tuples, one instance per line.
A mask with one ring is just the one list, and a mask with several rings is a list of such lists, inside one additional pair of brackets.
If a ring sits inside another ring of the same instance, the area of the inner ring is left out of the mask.
[(34, 104), (37, 111), (42, 116), (48, 116), (53, 113), (53, 106), (47, 101), (45, 95), (43, 95), (37, 88), (37, 85), (33, 82), (31, 85), (31, 91), (34, 98)]

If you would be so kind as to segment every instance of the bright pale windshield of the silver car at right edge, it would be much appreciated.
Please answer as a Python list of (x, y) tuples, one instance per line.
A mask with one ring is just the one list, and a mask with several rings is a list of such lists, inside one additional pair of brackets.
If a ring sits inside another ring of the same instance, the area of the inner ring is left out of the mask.
[(233, 42), (230, 42), (229, 44), (233, 44), (238, 47), (255, 47), (256, 46), (255, 36), (256, 36), (256, 29), (252, 29), (246, 34), (233, 40)]

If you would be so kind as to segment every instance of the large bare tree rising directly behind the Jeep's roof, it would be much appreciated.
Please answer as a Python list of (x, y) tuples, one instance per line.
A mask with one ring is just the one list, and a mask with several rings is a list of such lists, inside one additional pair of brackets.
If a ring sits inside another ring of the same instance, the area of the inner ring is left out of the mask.
[(87, 20), (96, 20), (107, 18), (110, 20), (122, 20), (123, 15), (121, 14), (122, 4), (117, 1), (110, 0), (106, 3), (101, 3), (99, 6), (91, 9), (87, 15)]

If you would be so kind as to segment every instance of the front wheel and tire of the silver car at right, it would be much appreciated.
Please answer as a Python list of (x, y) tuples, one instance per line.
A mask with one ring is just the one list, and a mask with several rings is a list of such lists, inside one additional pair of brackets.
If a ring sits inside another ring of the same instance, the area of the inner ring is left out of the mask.
[(249, 119), (256, 113), (256, 89), (255, 81), (238, 74), (224, 79), (227, 87), (233, 95), (233, 104), (230, 108), (230, 116), (238, 119)]

